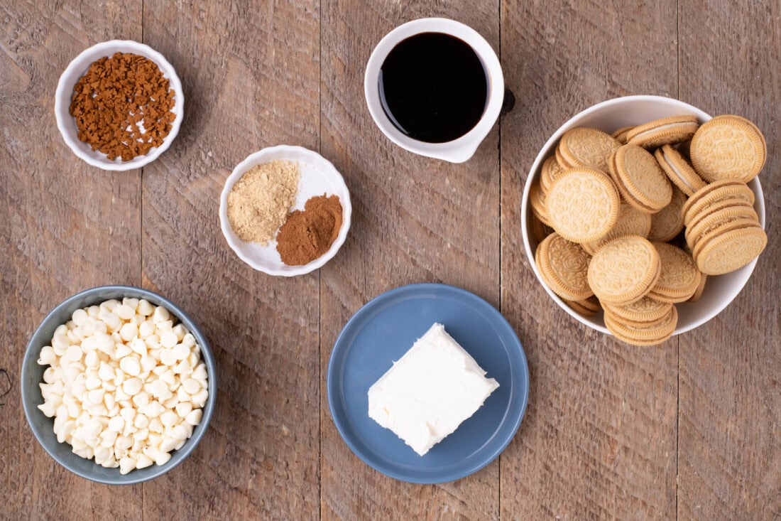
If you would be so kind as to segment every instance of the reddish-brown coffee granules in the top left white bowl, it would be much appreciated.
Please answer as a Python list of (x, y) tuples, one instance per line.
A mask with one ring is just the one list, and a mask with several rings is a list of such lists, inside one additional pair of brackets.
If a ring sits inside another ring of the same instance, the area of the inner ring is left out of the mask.
[(155, 62), (117, 52), (93, 62), (77, 81), (70, 115), (81, 141), (109, 160), (130, 161), (162, 145), (176, 118), (173, 102), (174, 92)]

